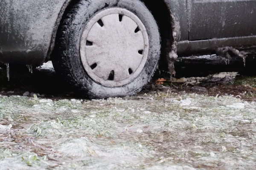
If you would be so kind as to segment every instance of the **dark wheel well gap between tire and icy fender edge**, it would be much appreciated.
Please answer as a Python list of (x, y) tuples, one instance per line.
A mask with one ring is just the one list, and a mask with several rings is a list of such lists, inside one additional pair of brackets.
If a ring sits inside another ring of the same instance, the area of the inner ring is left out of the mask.
[(142, 0), (148, 9), (153, 14), (155, 20), (157, 21), (160, 35), (161, 35), (161, 57), (159, 61), (159, 69), (163, 71), (168, 71), (167, 57), (169, 57), (169, 52), (171, 51), (170, 46), (172, 39), (172, 19), (171, 11), (164, 2), (164, 0)]

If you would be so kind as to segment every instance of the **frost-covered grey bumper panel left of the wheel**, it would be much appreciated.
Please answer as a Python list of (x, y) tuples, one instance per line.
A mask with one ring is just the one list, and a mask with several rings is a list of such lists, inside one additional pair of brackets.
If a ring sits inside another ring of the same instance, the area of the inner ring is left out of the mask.
[(66, 0), (0, 0), (0, 62), (40, 65)]

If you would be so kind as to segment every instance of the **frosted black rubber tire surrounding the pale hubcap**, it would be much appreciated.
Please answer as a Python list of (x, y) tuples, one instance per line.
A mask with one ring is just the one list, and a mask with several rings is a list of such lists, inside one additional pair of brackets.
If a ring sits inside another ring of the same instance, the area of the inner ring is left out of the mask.
[[(94, 82), (80, 58), (80, 39), (90, 17), (103, 8), (120, 7), (133, 12), (143, 22), (149, 38), (148, 59), (140, 75), (122, 87), (105, 87)], [(151, 80), (160, 58), (160, 33), (153, 15), (140, 0), (79, 0), (64, 14), (58, 29), (52, 59), (55, 71), (64, 75), (77, 91), (89, 98), (131, 96)]]

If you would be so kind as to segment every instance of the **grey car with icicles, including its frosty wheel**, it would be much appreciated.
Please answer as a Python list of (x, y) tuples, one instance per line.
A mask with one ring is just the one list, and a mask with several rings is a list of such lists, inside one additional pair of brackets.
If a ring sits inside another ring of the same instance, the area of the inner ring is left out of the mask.
[(255, 45), (256, 0), (0, 0), (0, 62), (52, 60), (90, 98), (136, 94), (160, 58), (175, 74), (177, 56)]

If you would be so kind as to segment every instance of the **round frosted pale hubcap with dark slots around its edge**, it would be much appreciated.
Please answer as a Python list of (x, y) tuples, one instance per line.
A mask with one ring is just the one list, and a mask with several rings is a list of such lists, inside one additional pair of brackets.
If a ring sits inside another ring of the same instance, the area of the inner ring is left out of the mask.
[(108, 8), (86, 23), (80, 55), (91, 79), (106, 87), (118, 87), (143, 71), (148, 48), (148, 34), (141, 20), (124, 8)]

